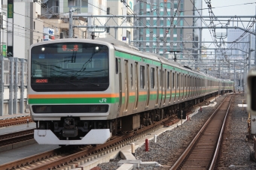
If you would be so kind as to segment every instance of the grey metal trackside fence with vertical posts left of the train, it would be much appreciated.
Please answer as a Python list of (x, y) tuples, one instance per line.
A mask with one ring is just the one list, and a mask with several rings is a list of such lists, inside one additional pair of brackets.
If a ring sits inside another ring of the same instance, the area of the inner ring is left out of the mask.
[(0, 116), (26, 111), (27, 61), (0, 55)]

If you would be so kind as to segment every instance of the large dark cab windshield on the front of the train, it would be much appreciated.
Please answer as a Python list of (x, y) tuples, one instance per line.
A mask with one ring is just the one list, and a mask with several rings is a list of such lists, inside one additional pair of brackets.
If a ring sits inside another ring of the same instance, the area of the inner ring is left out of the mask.
[(31, 49), (34, 91), (105, 91), (109, 85), (108, 46), (48, 43)]

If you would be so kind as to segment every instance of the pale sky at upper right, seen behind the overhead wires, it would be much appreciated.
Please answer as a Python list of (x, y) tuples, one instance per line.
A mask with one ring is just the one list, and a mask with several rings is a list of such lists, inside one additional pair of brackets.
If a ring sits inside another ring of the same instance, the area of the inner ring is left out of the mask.
[[(206, 1), (210, 0), (203, 0), (203, 8), (207, 8)], [(254, 16), (256, 10), (256, 0), (212, 0), (211, 4), (215, 16)], [(209, 16), (209, 10), (203, 10), (203, 16)], [(223, 23), (226, 24), (227, 22)], [(245, 27), (247, 24), (248, 22), (244, 22)], [(242, 27), (241, 24), (239, 26)], [(203, 41), (212, 41), (209, 29), (203, 29)], [(205, 45), (210, 48), (215, 47), (210, 43), (206, 43)]]

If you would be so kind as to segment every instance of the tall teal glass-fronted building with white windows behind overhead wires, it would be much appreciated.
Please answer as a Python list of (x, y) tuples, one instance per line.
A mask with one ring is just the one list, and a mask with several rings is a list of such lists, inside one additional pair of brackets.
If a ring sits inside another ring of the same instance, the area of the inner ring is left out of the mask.
[[(202, 1), (193, 0), (150, 0), (135, 1), (134, 13), (148, 15), (136, 19), (134, 25), (139, 26), (170, 26), (170, 28), (139, 28), (134, 30), (134, 41), (141, 51), (154, 52), (170, 58), (169, 53), (177, 51), (180, 53), (178, 58), (187, 58), (189, 49), (197, 48), (198, 44), (186, 41), (199, 40), (199, 31), (193, 28), (175, 28), (178, 26), (200, 26), (200, 20), (194, 21), (193, 18), (179, 18), (178, 16), (194, 16), (194, 8), (197, 5), (201, 9)], [(163, 18), (161, 16), (174, 16)], [(178, 53), (177, 53), (178, 54)], [(186, 54), (186, 55), (184, 55)]]

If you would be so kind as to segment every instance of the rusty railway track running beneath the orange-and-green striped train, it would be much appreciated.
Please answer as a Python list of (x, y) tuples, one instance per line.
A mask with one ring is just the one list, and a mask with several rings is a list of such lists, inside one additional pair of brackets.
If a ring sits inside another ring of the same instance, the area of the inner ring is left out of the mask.
[(74, 146), (57, 148), (52, 151), (23, 158), (22, 160), (0, 165), (0, 169), (56, 169), (68, 164), (75, 164), (79, 160), (88, 160), (92, 157), (99, 157), (108, 152), (115, 151), (118, 148), (122, 148), (148, 133), (152, 133), (154, 130), (163, 127), (163, 124), (169, 124), (170, 122), (175, 121), (175, 119), (177, 119), (176, 116), (172, 115), (162, 121), (154, 122), (154, 124), (144, 127), (141, 130), (113, 136), (108, 142), (102, 145), (96, 145), (94, 147), (87, 145), (75, 148)]

